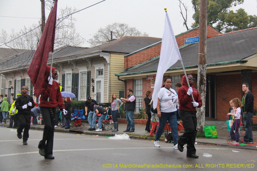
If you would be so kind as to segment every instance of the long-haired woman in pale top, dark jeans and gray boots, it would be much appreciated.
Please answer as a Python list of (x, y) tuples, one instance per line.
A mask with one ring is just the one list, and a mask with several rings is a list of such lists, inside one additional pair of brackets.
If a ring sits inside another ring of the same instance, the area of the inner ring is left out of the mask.
[(119, 127), (119, 122), (118, 122), (118, 115), (119, 115), (119, 109), (121, 107), (121, 105), (119, 105), (119, 103), (121, 103), (121, 105), (123, 105), (123, 102), (117, 98), (116, 94), (113, 94), (112, 96), (112, 118), (113, 118), (113, 127), (114, 129), (112, 130), (112, 132), (117, 132), (119, 131), (118, 127)]

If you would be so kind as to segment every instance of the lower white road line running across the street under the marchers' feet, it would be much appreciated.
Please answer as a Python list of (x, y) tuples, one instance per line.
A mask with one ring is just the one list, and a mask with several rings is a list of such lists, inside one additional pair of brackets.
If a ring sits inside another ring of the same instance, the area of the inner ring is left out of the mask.
[[(172, 148), (173, 147), (162, 147), (162, 148)], [(90, 150), (125, 150), (125, 149), (161, 149), (156, 147), (132, 147), (132, 148), (91, 148), (91, 149), (70, 149), (70, 150), (53, 150), (53, 152), (65, 152), (65, 151), (90, 151)], [(232, 148), (196, 148), (196, 149), (215, 149), (215, 150), (232, 150)], [(234, 150), (241, 150), (241, 149), (234, 149)], [(243, 150), (247, 151), (247, 150)], [(34, 152), (23, 152), (23, 153), (14, 153), (14, 154), (3, 154), (0, 155), (0, 157), (4, 156), (14, 156), (14, 155), (20, 155), (20, 154), (34, 154), (39, 153), (38, 151)]]

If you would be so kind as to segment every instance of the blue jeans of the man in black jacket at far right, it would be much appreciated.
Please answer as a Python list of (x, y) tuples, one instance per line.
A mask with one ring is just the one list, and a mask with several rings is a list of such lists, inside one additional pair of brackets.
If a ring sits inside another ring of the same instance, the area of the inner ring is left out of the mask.
[(252, 116), (253, 116), (253, 113), (250, 113), (250, 112), (244, 113), (244, 128), (245, 128), (244, 141), (247, 141), (247, 142), (253, 142)]

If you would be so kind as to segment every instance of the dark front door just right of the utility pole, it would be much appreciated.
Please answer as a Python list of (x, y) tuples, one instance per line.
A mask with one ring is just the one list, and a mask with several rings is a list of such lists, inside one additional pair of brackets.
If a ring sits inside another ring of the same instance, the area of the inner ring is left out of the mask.
[(216, 118), (216, 75), (206, 75), (205, 119)]

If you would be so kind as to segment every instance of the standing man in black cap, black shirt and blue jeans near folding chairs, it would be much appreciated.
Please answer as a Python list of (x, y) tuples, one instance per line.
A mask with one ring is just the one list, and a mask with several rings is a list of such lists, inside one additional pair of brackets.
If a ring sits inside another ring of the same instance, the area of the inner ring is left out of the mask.
[[(90, 105), (92, 102), (95, 103), (96, 105), (98, 105), (97, 101), (95, 101), (90, 96), (88, 96), (87, 100), (85, 101), (85, 112), (86, 112), (86, 115), (88, 114), (87, 120), (90, 125), (90, 128), (87, 130), (89, 130), (89, 131), (95, 130), (95, 123), (96, 123), (96, 119), (97, 119), (97, 116), (95, 115), (95, 112), (94, 112), (94, 108), (91, 108), (91, 105)], [(88, 107), (89, 107), (89, 113), (87, 113)]]

